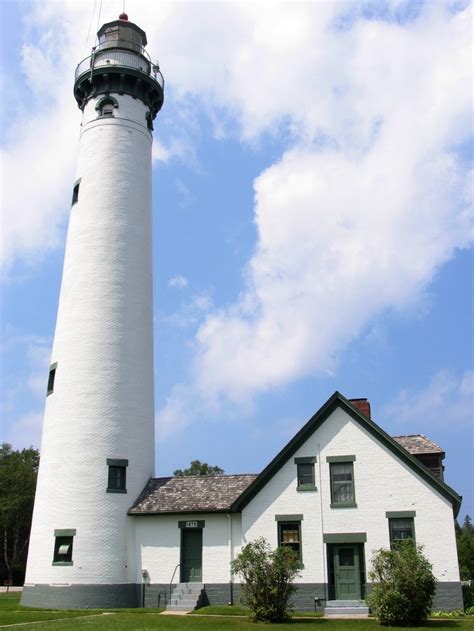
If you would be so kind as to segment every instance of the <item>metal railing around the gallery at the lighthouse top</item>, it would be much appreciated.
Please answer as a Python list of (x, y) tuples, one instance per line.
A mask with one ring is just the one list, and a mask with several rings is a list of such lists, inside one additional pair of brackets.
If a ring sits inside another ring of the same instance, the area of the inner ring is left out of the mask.
[(92, 49), (92, 54), (85, 57), (77, 65), (74, 78), (77, 81), (78, 77), (85, 72), (90, 72), (92, 76), (94, 68), (103, 68), (104, 66), (133, 68), (147, 76), (153, 76), (161, 88), (164, 87), (164, 78), (159, 65), (154, 64), (147, 51), (134, 42), (119, 40), (117, 42), (103, 42), (95, 46)]

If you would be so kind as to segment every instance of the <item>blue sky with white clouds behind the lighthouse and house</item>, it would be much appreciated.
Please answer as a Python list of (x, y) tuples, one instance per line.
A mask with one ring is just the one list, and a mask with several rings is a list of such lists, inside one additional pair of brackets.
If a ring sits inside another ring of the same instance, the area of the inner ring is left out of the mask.
[[(80, 112), (122, 2), (4, 1), (2, 440), (40, 446)], [(95, 7), (95, 10), (94, 10)], [(158, 475), (258, 472), (334, 392), (473, 514), (471, 6), (127, 0), (153, 163)], [(88, 37), (89, 33), (89, 37)]]

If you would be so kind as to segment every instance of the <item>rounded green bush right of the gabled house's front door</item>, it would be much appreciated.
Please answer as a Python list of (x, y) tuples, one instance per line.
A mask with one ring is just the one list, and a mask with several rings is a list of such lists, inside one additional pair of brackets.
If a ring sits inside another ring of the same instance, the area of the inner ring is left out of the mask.
[(392, 550), (377, 550), (369, 578), (372, 591), (367, 603), (380, 624), (417, 626), (426, 621), (436, 579), (422, 546), (406, 541)]

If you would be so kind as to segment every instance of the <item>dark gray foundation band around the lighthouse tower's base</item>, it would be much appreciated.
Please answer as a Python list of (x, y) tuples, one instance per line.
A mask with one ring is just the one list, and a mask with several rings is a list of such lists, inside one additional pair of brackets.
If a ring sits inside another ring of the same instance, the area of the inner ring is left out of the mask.
[(42, 609), (114, 609), (139, 607), (141, 585), (28, 585), (21, 604)]

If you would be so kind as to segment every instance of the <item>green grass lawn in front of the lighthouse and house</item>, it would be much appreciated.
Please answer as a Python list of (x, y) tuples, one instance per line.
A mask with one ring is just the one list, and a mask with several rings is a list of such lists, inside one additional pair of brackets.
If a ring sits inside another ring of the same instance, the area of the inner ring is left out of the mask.
[[(114, 609), (114, 610), (80, 610), (80, 611), (52, 611), (21, 607), (18, 593), (0, 594), (0, 628), (2, 625), (22, 622), (32, 622), (24, 627), (31, 631), (87, 631), (91, 629), (114, 631), (142, 631), (155, 629), (156, 631), (256, 631), (257, 629), (271, 629), (271, 631), (387, 631), (375, 620), (326, 620), (324, 618), (297, 618), (286, 624), (262, 625), (249, 622), (247, 618), (226, 615), (230, 607), (209, 607), (216, 617), (200, 615), (192, 616), (160, 616), (161, 610), (156, 609)], [(246, 613), (243, 607), (232, 609)], [(202, 611), (202, 610), (201, 610)], [(224, 612), (224, 613), (223, 613)], [(218, 614), (218, 616), (216, 615)], [(41, 622), (45, 621), (45, 622)], [(34, 624), (38, 622), (38, 624)], [(15, 627), (10, 627), (14, 629)], [(18, 627), (22, 629), (22, 627)], [(394, 631), (400, 627), (391, 627)], [(404, 631), (411, 628), (405, 627)], [(419, 629), (432, 631), (464, 631), (474, 629), (472, 620), (430, 620), (426, 626)], [(414, 631), (414, 630), (413, 630)]]

